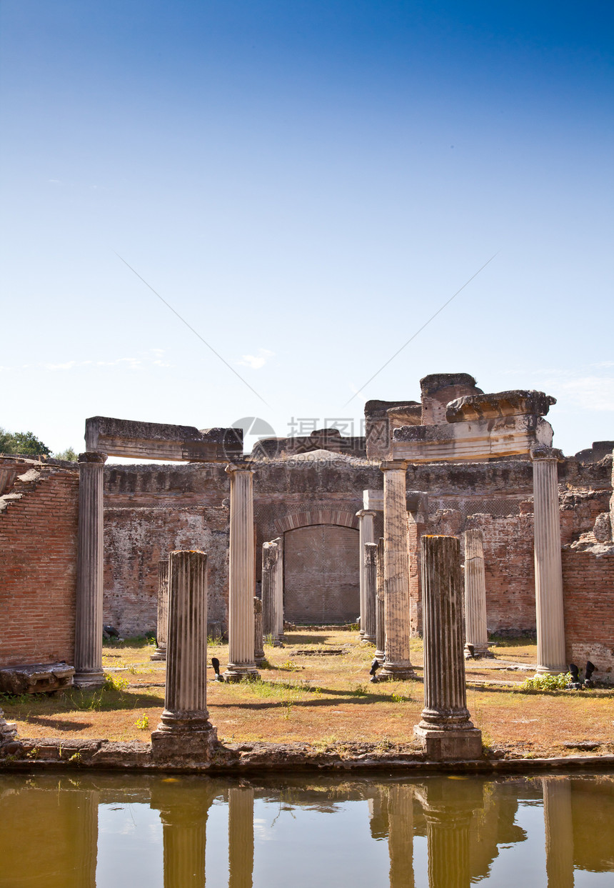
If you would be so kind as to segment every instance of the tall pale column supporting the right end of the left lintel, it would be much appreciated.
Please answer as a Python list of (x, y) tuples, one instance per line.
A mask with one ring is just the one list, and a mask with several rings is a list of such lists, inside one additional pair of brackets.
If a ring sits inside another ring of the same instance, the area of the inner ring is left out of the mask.
[(226, 466), (230, 475), (228, 666), (225, 681), (259, 678), (254, 650), (254, 470), (248, 463)]

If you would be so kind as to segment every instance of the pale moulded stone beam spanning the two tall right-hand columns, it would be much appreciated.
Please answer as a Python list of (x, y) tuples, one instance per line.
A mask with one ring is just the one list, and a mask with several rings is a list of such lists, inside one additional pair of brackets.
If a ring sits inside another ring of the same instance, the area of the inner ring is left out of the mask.
[(547, 420), (535, 414), (437, 425), (404, 425), (395, 429), (392, 455), (395, 460), (408, 463), (476, 462), (496, 456), (521, 456), (537, 445), (550, 447), (552, 433)]

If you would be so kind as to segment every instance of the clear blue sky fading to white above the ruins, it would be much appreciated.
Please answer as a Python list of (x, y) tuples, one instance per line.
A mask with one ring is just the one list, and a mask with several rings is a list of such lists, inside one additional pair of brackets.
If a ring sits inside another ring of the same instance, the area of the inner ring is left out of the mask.
[(614, 439), (613, 20), (3, 0), (0, 426), (358, 433), (366, 399), (465, 371), (555, 395), (565, 453)]

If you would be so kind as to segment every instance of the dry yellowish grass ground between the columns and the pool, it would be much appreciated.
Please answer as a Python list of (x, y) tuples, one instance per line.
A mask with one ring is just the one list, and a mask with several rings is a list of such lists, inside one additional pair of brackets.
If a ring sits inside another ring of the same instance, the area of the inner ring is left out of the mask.
[[(322, 647), (341, 647), (343, 653), (292, 653)], [(599, 751), (614, 752), (614, 690), (522, 693), (518, 686), (531, 672), (507, 670), (497, 661), (535, 662), (535, 646), (509, 642), (495, 650), (497, 660), (469, 662), (467, 667), (468, 708), (485, 745), (511, 756), (538, 756), (572, 754), (563, 747), (565, 741), (594, 741), (602, 744)], [(109, 675), (115, 687), (4, 697), (0, 705), (24, 737), (148, 741), (164, 704), (165, 664), (150, 661), (152, 651), (146, 642), (106, 645), (103, 665), (114, 670)], [(412, 642), (418, 678), (403, 682), (369, 682), (374, 648), (361, 645), (356, 632), (291, 632), (285, 647), (265, 646), (264, 652), (268, 665), (261, 669), (261, 682), (209, 683), (210, 717), (221, 740), (299, 741), (320, 747), (412, 743), (422, 709), (420, 640)], [(227, 646), (209, 647), (209, 657), (223, 664), (227, 654)], [(514, 684), (487, 684), (493, 682)]]

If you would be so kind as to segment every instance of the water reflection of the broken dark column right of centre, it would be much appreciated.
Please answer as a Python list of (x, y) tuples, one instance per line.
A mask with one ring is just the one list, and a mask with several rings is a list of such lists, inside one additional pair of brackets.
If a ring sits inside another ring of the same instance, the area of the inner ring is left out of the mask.
[(481, 783), (435, 779), (416, 789), (427, 821), (429, 888), (469, 888), (469, 828), (476, 808), (484, 805)]

